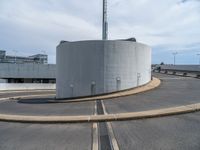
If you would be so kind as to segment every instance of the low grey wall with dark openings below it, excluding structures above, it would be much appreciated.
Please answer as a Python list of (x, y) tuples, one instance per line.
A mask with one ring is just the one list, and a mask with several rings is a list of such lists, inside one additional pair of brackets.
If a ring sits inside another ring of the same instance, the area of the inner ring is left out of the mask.
[(55, 64), (0, 63), (0, 83), (55, 83)]

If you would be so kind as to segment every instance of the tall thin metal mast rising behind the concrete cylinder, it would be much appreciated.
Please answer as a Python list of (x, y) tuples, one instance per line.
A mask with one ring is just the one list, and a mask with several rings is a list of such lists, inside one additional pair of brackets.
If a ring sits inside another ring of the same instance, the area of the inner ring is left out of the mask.
[(108, 39), (108, 22), (107, 22), (107, 0), (103, 0), (103, 25), (102, 25), (102, 39)]

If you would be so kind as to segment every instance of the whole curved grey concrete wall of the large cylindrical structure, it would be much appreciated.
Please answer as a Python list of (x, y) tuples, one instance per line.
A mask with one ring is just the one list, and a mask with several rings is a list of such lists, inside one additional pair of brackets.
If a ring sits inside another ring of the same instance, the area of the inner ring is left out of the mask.
[(57, 46), (57, 98), (125, 90), (150, 80), (151, 48), (144, 44), (80, 41)]

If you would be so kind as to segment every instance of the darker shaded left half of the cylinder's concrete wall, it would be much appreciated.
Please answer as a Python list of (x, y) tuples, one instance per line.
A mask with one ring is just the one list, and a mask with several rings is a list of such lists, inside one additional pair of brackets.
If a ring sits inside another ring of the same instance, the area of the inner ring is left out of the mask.
[(64, 43), (57, 47), (57, 97), (91, 94), (95, 82), (96, 93), (103, 91), (104, 51), (101, 42)]

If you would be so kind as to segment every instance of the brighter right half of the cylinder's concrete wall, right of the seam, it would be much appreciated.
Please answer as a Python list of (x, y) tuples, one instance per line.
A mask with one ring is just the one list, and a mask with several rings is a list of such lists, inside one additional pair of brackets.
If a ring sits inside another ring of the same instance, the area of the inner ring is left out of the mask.
[(106, 42), (104, 59), (104, 92), (133, 88), (150, 81), (151, 49), (144, 44)]

